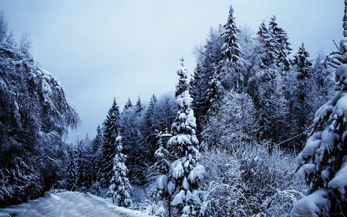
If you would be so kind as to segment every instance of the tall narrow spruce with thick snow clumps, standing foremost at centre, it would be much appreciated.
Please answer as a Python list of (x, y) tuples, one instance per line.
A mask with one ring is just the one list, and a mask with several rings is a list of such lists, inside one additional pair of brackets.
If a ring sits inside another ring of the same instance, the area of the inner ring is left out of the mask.
[(200, 159), (199, 141), (195, 136), (195, 117), (194, 111), (191, 109), (193, 98), (189, 95), (188, 71), (184, 68), (183, 61), (181, 66), (177, 70), (180, 78), (175, 90), (178, 112), (176, 123), (172, 124), (175, 136), (168, 141), (168, 145), (174, 147), (174, 153), (178, 159), (170, 166), (169, 177), (171, 180), (167, 185), (167, 190), (172, 199), (171, 206), (180, 210), (181, 217), (188, 217), (199, 215), (203, 198), (199, 183), (204, 179), (205, 168), (198, 164)]

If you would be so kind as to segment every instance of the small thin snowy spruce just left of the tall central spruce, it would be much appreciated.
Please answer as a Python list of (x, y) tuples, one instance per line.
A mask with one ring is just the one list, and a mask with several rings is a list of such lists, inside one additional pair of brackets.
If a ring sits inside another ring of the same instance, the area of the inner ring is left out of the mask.
[[(153, 165), (154, 169), (158, 171), (160, 174), (167, 174), (170, 170), (170, 162), (168, 157), (170, 155), (169, 151), (163, 146), (163, 137), (161, 136), (163, 133), (158, 130), (155, 130), (157, 134), (156, 138), (158, 138), (158, 142), (156, 143), (158, 149), (154, 153), (154, 157), (156, 159), (155, 164)], [(165, 129), (165, 134), (168, 133), (168, 129)]]

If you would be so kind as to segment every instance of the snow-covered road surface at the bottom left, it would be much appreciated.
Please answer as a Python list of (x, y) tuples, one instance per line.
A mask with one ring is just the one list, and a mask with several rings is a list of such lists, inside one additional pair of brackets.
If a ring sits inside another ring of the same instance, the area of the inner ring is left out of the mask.
[[(106, 199), (93, 194), (62, 192), (45, 195), (6, 209), (0, 209), (0, 217), (138, 217), (140, 211), (111, 205)], [(148, 216), (147, 216), (148, 217)]]

